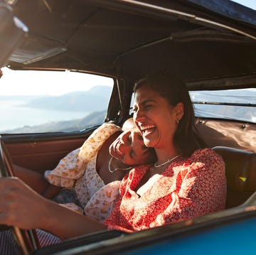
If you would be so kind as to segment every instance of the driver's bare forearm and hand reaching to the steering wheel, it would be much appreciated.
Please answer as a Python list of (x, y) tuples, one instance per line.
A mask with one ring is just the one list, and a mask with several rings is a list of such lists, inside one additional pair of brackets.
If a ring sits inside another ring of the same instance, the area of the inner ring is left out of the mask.
[(48, 200), (18, 178), (0, 178), (0, 224), (43, 229), (61, 239), (107, 229), (107, 226)]

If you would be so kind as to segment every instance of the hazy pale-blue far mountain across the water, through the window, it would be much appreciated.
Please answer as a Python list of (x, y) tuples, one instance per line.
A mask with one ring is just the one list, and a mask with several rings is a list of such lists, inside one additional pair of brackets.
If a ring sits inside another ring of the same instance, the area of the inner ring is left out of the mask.
[(112, 87), (95, 86), (88, 91), (71, 92), (62, 96), (33, 99), (22, 107), (73, 112), (102, 111), (106, 108)]

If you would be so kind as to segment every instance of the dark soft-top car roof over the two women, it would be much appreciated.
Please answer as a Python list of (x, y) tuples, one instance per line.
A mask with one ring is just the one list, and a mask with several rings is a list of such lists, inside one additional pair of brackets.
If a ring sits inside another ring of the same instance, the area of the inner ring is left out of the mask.
[(168, 70), (190, 89), (255, 87), (256, 11), (233, 1), (27, 0), (13, 9), (29, 30), (13, 69), (132, 80)]

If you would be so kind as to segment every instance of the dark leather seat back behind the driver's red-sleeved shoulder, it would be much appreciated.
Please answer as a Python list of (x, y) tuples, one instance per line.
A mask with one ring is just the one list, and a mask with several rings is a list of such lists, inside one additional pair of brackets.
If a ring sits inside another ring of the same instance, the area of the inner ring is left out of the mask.
[(241, 205), (256, 191), (256, 153), (224, 146), (215, 146), (213, 150), (225, 161), (226, 208)]

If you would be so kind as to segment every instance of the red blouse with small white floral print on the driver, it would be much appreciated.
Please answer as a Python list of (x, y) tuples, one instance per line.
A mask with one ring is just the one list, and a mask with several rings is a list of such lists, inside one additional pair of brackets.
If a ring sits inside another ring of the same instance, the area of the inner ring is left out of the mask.
[(176, 158), (139, 196), (134, 190), (149, 167), (133, 168), (123, 178), (120, 199), (104, 222), (109, 229), (133, 232), (224, 209), (225, 165), (210, 148)]

